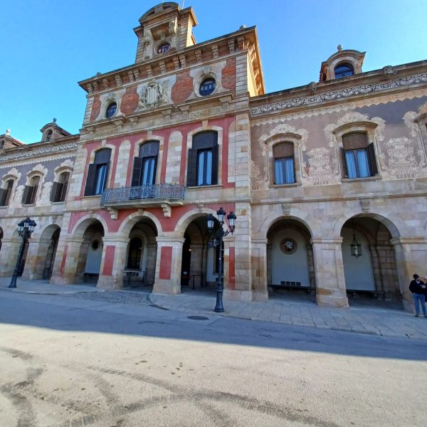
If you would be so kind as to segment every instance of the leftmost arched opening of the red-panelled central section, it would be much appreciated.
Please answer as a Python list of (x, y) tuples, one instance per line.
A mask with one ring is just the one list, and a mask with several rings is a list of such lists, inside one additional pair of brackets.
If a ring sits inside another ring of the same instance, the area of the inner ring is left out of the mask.
[(75, 277), (78, 282), (97, 283), (102, 260), (102, 223), (94, 219), (83, 233)]

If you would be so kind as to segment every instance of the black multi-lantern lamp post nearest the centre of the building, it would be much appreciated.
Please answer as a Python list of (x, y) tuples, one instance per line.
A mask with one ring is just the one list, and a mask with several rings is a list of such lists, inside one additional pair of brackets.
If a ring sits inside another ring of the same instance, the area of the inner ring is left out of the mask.
[(208, 215), (207, 222), (208, 222), (208, 230), (210, 233), (215, 233), (216, 239), (212, 241), (212, 246), (216, 244), (216, 247), (218, 248), (218, 279), (216, 280), (216, 305), (215, 305), (215, 312), (223, 312), (224, 307), (222, 303), (222, 295), (224, 290), (224, 284), (223, 284), (223, 272), (222, 272), (222, 242), (223, 237), (227, 236), (228, 233), (233, 234), (234, 229), (236, 228), (236, 215), (234, 212), (230, 212), (230, 214), (227, 215), (228, 219), (228, 226), (227, 229), (223, 229), (223, 223), (224, 218), (226, 216), (226, 211), (224, 211), (223, 208), (219, 208), (218, 211), (216, 211), (216, 215), (218, 216), (218, 222), (219, 227), (214, 230), (214, 224), (215, 224), (215, 218), (212, 214)]

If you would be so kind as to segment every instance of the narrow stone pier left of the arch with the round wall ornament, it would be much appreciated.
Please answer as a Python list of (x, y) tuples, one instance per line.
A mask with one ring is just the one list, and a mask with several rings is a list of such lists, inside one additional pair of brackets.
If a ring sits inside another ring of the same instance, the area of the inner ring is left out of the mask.
[(268, 300), (267, 243), (265, 237), (252, 239), (253, 300)]

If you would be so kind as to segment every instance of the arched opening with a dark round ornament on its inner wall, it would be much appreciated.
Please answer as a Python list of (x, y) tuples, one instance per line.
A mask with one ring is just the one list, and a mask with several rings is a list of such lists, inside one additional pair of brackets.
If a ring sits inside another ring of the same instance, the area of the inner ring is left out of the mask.
[(315, 268), (310, 231), (300, 222), (281, 219), (267, 234), (270, 296), (292, 295), (315, 300)]

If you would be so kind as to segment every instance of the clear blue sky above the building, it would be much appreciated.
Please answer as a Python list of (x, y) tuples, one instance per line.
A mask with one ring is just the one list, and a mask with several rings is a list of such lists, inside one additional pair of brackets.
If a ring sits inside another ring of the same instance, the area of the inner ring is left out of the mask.
[[(77, 82), (135, 61), (138, 19), (159, 0), (5, 0), (0, 6), (0, 134), (38, 142), (57, 117), (77, 133), (85, 92)], [(182, 0), (179, 1), (181, 6)], [(257, 26), (265, 89), (319, 80), (337, 45), (366, 51), (364, 71), (427, 59), (427, 1), (185, 0), (196, 41)]]

